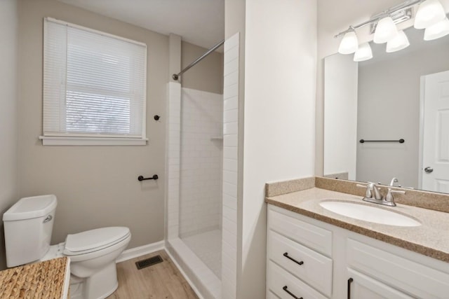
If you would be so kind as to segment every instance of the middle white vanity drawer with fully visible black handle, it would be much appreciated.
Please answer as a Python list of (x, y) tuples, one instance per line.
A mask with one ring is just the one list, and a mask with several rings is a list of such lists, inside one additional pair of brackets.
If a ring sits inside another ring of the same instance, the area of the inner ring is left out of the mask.
[[(332, 259), (272, 230), (268, 231), (268, 246), (269, 259), (330, 297), (332, 294)], [(299, 265), (298, 262), (302, 265)]]

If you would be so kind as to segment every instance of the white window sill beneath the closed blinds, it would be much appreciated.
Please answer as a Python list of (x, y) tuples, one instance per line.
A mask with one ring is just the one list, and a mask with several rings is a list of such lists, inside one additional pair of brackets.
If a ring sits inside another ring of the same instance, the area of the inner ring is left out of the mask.
[(145, 146), (147, 138), (39, 136), (43, 146)]

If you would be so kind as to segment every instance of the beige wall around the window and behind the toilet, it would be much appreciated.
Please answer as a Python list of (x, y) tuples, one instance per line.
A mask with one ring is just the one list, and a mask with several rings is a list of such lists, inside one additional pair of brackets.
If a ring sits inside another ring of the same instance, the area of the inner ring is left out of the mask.
[[(38, 138), (42, 134), (44, 17), (147, 43), (147, 146), (41, 145)], [(129, 248), (161, 241), (164, 237), (168, 36), (55, 0), (20, 0), (19, 32), (20, 197), (46, 193), (58, 197), (53, 243), (64, 241), (69, 233), (108, 225), (130, 228), (133, 237)], [(204, 64), (206, 69), (210, 67), (208, 62)], [(215, 64), (212, 68), (216, 69)], [(192, 82), (200, 80), (191, 76)], [(210, 78), (210, 73), (196, 76)], [(221, 81), (208, 82), (217, 86)], [(198, 87), (201, 88), (208, 87)], [(156, 122), (155, 114), (161, 115), (161, 120)], [(159, 174), (160, 179), (141, 183), (137, 180), (140, 174)]]

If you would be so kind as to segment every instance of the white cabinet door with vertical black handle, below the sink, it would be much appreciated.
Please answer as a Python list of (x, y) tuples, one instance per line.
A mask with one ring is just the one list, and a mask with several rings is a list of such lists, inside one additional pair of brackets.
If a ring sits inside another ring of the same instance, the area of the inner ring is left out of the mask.
[(348, 269), (348, 299), (413, 299), (382, 282)]

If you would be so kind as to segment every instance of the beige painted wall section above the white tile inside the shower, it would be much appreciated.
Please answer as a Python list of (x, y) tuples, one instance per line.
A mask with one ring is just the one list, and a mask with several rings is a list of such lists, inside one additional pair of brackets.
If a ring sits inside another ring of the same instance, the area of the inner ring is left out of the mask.
[[(217, 40), (217, 43), (219, 41)], [(214, 45), (210, 45), (212, 48)], [(181, 69), (194, 62), (196, 58), (206, 53), (208, 49), (195, 46), (192, 43), (181, 43)], [(223, 93), (223, 54), (217, 51), (210, 53), (181, 76), (183, 88)]]

